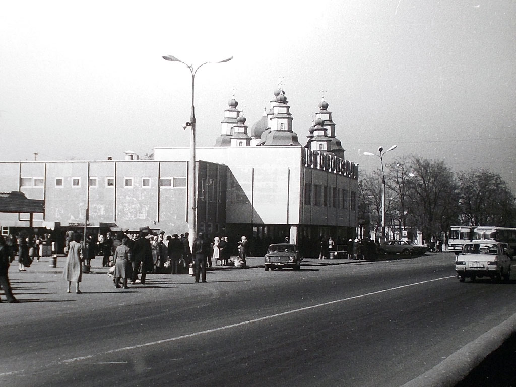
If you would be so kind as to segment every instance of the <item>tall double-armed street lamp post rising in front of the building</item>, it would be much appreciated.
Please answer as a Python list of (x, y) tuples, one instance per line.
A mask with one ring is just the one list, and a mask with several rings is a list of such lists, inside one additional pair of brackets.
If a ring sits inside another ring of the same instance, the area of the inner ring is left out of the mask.
[(169, 60), (171, 62), (180, 62), (183, 63), (192, 74), (192, 108), (190, 114), (190, 121), (183, 125), (183, 128), (186, 129), (188, 126), (190, 127), (190, 166), (188, 168), (188, 211), (187, 211), (187, 222), (188, 222), (188, 233), (190, 234), (189, 243), (190, 246), (193, 244), (193, 239), (197, 236), (197, 218), (196, 218), (196, 209), (197, 209), (197, 183), (196, 183), (196, 157), (195, 157), (195, 107), (194, 107), (194, 93), (195, 93), (195, 75), (197, 70), (201, 68), (201, 66), (207, 65), (208, 63), (224, 63), (229, 62), (233, 57), (220, 60), (220, 61), (212, 61), (212, 62), (204, 62), (202, 65), (199, 65), (195, 70), (192, 65), (187, 65), (182, 60), (176, 58), (172, 55), (164, 55), (163, 59)]

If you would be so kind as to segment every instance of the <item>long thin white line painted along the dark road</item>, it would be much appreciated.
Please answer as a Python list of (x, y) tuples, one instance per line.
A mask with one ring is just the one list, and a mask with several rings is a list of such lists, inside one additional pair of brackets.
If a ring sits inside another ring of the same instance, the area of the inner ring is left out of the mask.
[[(235, 328), (235, 327), (249, 325), (249, 324), (252, 324), (253, 322), (264, 321), (264, 320), (268, 320), (268, 319), (271, 319), (271, 318), (276, 318), (276, 317), (280, 317), (280, 316), (286, 316), (288, 314), (293, 314), (293, 313), (308, 311), (308, 310), (311, 310), (311, 309), (326, 307), (327, 305), (332, 305), (332, 304), (336, 304), (336, 303), (339, 303), (339, 302), (350, 301), (350, 300), (354, 300), (354, 299), (358, 299), (358, 298), (363, 298), (363, 297), (367, 297), (367, 296), (374, 296), (374, 295), (381, 294), (381, 293), (386, 293), (386, 292), (392, 292), (392, 291), (395, 291), (395, 290), (398, 290), (398, 289), (402, 289), (404, 287), (422, 285), (422, 284), (429, 283), (429, 282), (447, 280), (449, 278), (455, 278), (455, 277), (457, 277), (457, 276), (447, 276), (447, 277), (435, 278), (433, 280), (426, 280), (426, 281), (421, 281), (421, 282), (414, 282), (414, 283), (407, 284), (407, 285), (395, 286), (395, 287), (391, 287), (391, 288), (388, 288), (388, 289), (383, 289), (381, 291), (370, 292), (370, 293), (365, 293), (365, 294), (361, 294), (361, 295), (358, 295), (358, 296), (342, 298), (340, 300), (323, 302), (321, 304), (311, 305), (310, 307), (294, 309), (294, 310), (291, 310), (291, 311), (286, 311), (286, 312), (282, 312), (282, 313), (272, 314), (272, 315), (269, 315), (269, 316), (264, 316), (264, 317), (260, 317), (260, 318), (254, 318), (252, 320), (236, 322), (235, 324), (230, 324), (230, 325), (226, 325), (226, 326), (223, 326), (223, 327), (218, 327), (218, 328), (213, 328), (213, 329), (206, 329), (204, 331), (183, 334), (181, 336), (164, 338), (163, 340), (157, 340), (157, 341), (153, 341), (153, 342), (149, 342), (149, 343), (137, 344), (137, 345), (132, 345), (132, 346), (128, 346), (128, 347), (116, 348), (116, 349), (111, 349), (111, 350), (105, 351), (105, 352), (99, 352), (99, 353), (95, 353), (95, 354), (91, 354), (91, 355), (87, 355), (87, 356), (81, 356), (81, 357), (77, 357), (77, 358), (73, 358), (73, 359), (63, 360), (63, 361), (61, 361), (61, 363), (69, 364), (69, 363), (73, 363), (73, 362), (76, 362), (76, 361), (91, 359), (93, 357), (100, 356), (100, 355), (105, 355), (105, 354), (109, 354), (109, 353), (129, 351), (129, 350), (138, 349), (138, 348), (142, 348), (142, 347), (150, 347), (150, 346), (153, 346), (153, 345), (158, 345), (158, 344), (168, 343), (168, 342), (172, 342), (172, 341), (176, 341), (176, 340), (181, 340), (182, 338), (195, 337), (195, 336), (199, 336), (201, 334), (212, 333), (212, 332), (222, 331), (222, 330), (225, 330), (225, 329), (231, 329), (231, 328)], [(0, 376), (2, 376), (2, 374), (0, 374)]]

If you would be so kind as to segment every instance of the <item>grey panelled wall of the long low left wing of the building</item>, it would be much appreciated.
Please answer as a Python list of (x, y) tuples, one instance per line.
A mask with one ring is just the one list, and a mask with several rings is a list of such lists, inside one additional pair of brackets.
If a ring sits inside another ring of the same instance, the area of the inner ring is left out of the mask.
[[(209, 175), (215, 185), (223, 188), (218, 199), (224, 202), (214, 203), (207, 217), (202, 218), (215, 227), (216, 222), (225, 222), (227, 167), (198, 164), (199, 178)], [(35, 227), (43, 221), (60, 222), (62, 227), (83, 224), (89, 205), (88, 223), (92, 226), (116, 223), (130, 230), (149, 226), (182, 233), (188, 228), (187, 171), (187, 162), (153, 160), (0, 163), (0, 191), (18, 191), (23, 182), (25, 186), (20, 190), (27, 198), (45, 200), (44, 218), (42, 214), (35, 214)], [(179, 178), (184, 184), (160, 187), (160, 178)], [(38, 182), (43, 179), (44, 185), (29, 186), (35, 179)], [(74, 179), (78, 185), (73, 184)], [(108, 179), (114, 179), (115, 184), (108, 185)], [(124, 184), (126, 180), (132, 184)], [(27, 227), (28, 221), (19, 220), (18, 214), (0, 214), (0, 226)]]

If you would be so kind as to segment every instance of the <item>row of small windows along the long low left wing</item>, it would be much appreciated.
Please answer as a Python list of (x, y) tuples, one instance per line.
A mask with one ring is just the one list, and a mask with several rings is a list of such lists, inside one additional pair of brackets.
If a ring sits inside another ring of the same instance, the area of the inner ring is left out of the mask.
[[(73, 188), (80, 188), (81, 178), (71, 178), (70, 184)], [(98, 178), (89, 178), (88, 186), (89, 187), (99, 187), (100, 179)], [(135, 186), (134, 178), (123, 178), (123, 187), (124, 188), (133, 188)], [(114, 187), (115, 186), (115, 178), (105, 178), (105, 187)], [(22, 178), (20, 179), (21, 187), (34, 187), (34, 188), (43, 188), (44, 187), (44, 179), (43, 178)], [(141, 178), (140, 186), (142, 188), (151, 188), (151, 178)], [(55, 187), (63, 188), (65, 187), (65, 178), (55, 178)], [(159, 187), (162, 188), (186, 188), (186, 178), (159, 178)]]

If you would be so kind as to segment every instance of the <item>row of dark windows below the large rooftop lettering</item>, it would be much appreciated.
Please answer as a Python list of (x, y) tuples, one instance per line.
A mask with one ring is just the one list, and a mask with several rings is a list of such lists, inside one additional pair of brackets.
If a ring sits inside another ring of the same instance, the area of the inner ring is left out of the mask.
[(347, 209), (349, 208), (348, 204), (351, 204), (351, 209), (354, 209), (357, 205), (356, 192), (351, 192), (351, 203), (349, 203), (348, 198), (349, 191), (347, 189), (327, 187), (323, 185), (312, 185), (308, 183), (304, 185), (305, 205)]

